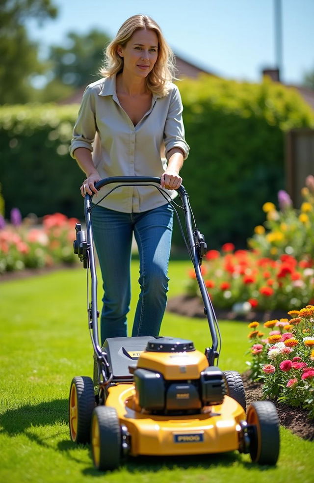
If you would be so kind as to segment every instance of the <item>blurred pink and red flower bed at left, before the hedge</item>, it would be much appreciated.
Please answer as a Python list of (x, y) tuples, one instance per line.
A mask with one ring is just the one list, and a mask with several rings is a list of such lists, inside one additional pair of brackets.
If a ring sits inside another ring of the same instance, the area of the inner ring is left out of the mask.
[(61, 213), (46, 215), (41, 224), (35, 217), (22, 220), (19, 210), (11, 212), (11, 223), (0, 219), (0, 274), (25, 268), (74, 264), (75, 218)]

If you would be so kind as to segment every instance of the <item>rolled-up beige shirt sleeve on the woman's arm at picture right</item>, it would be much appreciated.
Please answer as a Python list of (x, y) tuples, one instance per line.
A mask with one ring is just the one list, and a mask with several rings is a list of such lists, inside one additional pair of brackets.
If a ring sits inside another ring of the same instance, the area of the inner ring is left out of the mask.
[(163, 141), (165, 156), (172, 148), (180, 148), (184, 153), (184, 160), (188, 156), (189, 146), (184, 139), (184, 125), (182, 119), (183, 105), (177, 86), (172, 91), (168, 115), (164, 128)]

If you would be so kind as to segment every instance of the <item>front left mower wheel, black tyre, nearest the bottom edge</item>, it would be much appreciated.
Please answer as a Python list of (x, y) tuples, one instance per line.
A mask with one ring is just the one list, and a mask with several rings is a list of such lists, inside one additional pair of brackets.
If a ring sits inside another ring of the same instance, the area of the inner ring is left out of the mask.
[(118, 468), (122, 457), (121, 428), (114, 407), (97, 406), (91, 427), (94, 465), (98, 470)]

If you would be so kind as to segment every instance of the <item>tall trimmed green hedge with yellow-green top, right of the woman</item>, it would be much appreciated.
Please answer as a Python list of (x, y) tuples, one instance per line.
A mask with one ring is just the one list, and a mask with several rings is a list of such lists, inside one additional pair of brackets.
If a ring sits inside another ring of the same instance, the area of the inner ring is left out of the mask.
[(245, 246), (261, 207), (285, 188), (284, 136), (314, 126), (297, 91), (204, 76), (180, 83), (190, 155), (182, 175), (209, 248)]

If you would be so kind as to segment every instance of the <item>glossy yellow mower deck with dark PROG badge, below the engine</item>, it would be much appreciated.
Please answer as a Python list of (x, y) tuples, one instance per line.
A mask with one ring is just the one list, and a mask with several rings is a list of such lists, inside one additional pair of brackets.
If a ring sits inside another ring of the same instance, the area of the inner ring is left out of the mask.
[(159, 416), (136, 410), (133, 384), (118, 384), (108, 392), (105, 405), (114, 407), (120, 424), (127, 427), (132, 456), (221, 453), (239, 447), (237, 425), (245, 420), (245, 412), (228, 396), (223, 404), (206, 408), (207, 413)]

